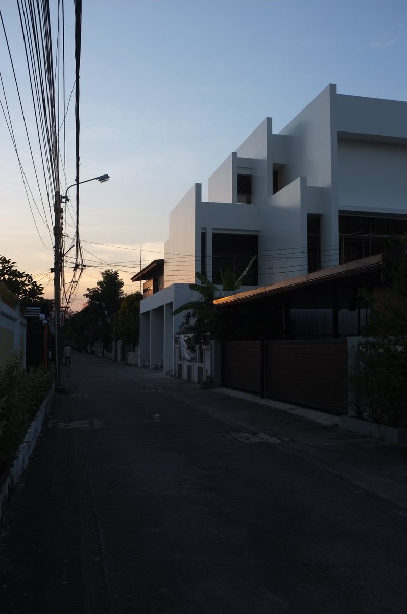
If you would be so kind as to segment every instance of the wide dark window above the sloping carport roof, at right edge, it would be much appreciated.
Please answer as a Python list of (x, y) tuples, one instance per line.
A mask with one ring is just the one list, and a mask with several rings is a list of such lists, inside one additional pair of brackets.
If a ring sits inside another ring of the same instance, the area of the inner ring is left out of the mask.
[(339, 262), (386, 252), (392, 241), (407, 234), (407, 218), (339, 216)]

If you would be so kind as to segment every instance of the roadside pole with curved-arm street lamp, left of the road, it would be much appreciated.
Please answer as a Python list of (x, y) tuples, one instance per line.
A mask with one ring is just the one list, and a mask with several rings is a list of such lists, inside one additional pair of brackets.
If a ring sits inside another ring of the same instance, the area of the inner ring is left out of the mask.
[[(72, 188), (74, 185), (78, 186), (79, 184), (86, 184), (88, 181), (99, 181), (100, 183), (104, 183), (108, 181), (110, 177), (107, 174), (98, 175), (97, 177), (92, 177), (91, 179), (85, 179), (85, 181), (75, 181), (74, 184), (69, 185), (66, 188), (65, 196), (61, 196), (59, 192), (55, 192), (55, 204), (54, 204), (54, 302), (55, 302), (55, 386), (56, 389), (59, 388), (60, 384), (60, 373), (61, 373), (61, 364), (60, 364), (60, 338), (61, 338), (61, 324), (59, 322), (59, 313), (61, 312), (61, 299), (59, 297), (59, 293), (61, 292), (61, 264), (64, 258), (63, 251), (61, 249), (61, 239), (62, 239), (62, 223), (61, 223), (61, 203), (69, 202), (68, 198), (68, 190)], [(77, 222), (76, 222), (76, 240), (77, 240), (77, 250), (79, 243), (79, 198), (77, 192), (77, 206), (76, 206), (76, 214), (77, 214)], [(75, 263), (75, 268), (78, 268), (78, 263)]]

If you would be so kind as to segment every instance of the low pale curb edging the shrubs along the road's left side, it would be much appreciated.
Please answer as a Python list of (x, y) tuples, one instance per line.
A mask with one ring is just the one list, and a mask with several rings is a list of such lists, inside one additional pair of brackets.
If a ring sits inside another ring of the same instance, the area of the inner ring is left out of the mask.
[(28, 465), (32, 451), (37, 443), (38, 436), (42, 429), (42, 423), (48, 413), (51, 402), (55, 395), (55, 384), (52, 384), (44, 401), (41, 403), (39, 410), (36, 413), (34, 420), (27, 429), (25, 439), (21, 443), (18, 452), (9, 462), (4, 473), (0, 476), (0, 526), (6, 516), (7, 508), (9, 507), (10, 499), (12, 498), (15, 489), (20, 482), (21, 475)]

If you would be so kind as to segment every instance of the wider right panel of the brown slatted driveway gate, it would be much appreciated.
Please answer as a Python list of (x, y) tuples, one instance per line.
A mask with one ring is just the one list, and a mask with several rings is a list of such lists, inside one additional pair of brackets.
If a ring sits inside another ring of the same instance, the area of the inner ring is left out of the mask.
[(346, 339), (267, 341), (266, 394), (338, 414), (346, 402)]

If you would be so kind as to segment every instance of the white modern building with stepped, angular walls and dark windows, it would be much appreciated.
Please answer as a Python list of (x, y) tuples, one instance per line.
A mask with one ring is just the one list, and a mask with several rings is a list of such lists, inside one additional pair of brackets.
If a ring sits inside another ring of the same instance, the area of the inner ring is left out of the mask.
[(170, 212), (164, 260), (132, 278), (147, 280), (140, 362), (181, 375), (182, 315), (172, 311), (195, 298), (196, 271), (220, 284), (220, 269), (238, 276), (257, 255), (248, 290), (378, 254), (404, 233), (407, 103), (341, 95), (331, 84), (280, 133), (267, 117), (209, 178), (207, 202), (195, 184)]

